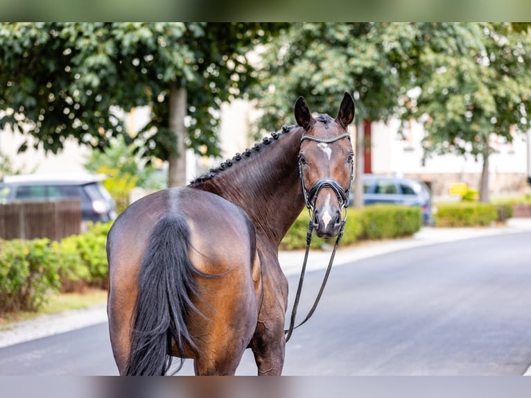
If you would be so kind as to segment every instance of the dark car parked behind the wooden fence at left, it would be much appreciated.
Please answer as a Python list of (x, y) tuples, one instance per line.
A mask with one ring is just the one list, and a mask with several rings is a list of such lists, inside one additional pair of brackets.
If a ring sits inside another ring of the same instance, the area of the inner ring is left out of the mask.
[(80, 198), (81, 219), (103, 223), (116, 218), (116, 204), (101, 181), (107, 175), (6, 175), (0, 203)]

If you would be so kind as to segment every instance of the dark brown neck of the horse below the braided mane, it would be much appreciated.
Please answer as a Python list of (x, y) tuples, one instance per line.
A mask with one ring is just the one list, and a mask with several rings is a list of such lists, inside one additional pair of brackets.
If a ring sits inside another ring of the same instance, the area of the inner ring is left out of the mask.
[(302, 132), (293, 128), (197, 187), (241, 207), (257, 232), (278, 245), (304, 207), (297, 159)]

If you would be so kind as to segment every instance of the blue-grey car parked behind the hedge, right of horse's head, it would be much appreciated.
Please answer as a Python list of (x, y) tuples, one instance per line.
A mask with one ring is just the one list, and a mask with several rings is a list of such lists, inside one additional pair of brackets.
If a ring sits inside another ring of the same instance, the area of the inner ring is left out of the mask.
[[(354, 202), (351, 193), (350, 204)], [(424, 225), (433, 224), (430, 189), (419, 180), (394, 178), (380, 175), (363, 175), (363, 203), (388, 203), (394, 205), (419, 206)]]

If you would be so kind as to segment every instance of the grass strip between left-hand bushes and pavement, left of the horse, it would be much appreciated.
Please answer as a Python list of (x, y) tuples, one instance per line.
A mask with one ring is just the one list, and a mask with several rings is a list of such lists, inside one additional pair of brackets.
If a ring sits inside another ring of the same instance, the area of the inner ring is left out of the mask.
[(30, 320), (40, 315), (50, 315), (69, 309), (84, 309), (95, 304), (107, 302), (107, 291), (87, 289), (84, 293), (55, 293), (38, 311), (17, 311), (0, 314), (0, 331), (9, 329), (9, 324), (21, 320)]

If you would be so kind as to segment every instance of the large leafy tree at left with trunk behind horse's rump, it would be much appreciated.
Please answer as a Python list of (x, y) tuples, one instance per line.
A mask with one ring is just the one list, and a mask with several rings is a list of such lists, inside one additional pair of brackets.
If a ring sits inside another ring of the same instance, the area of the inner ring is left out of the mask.
[[(53, 153), (67, 137), (103, 149), (124, 135), (184, 181), (184, 149), (218, 155), (220, 104), (256, 77), (247, 53), (277, 24), (0, 24), (0, 128), (33, 135)], [(138, 137), (119, 110), (150, 105)], [(23, 144), (20, 150), (25, 150)]]

